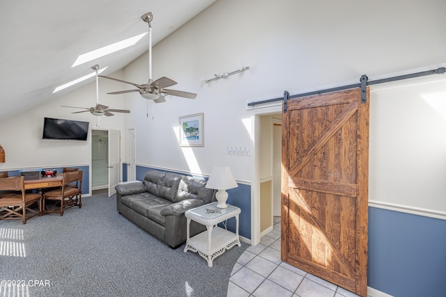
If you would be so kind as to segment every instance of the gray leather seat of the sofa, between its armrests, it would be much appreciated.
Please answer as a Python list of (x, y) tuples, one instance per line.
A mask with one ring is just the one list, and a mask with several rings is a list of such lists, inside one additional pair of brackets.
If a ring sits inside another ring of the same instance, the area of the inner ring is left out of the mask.
[(169, 200), (159, 198), (147, 192), (125, 195), (121, 198), (121, 203), (163, 226), (166, 225), (166, 220), (161, 215), (161, 210), (165, 206), (172, 204)]

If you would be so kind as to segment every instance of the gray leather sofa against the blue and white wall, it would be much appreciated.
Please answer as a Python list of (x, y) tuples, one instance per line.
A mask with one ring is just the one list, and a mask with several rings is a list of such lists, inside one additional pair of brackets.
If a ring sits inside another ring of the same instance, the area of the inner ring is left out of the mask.
[[(185, 211), (210, 203), (214, 191), (206, 181), (171, 172), (149, 170), (142, 182), (118, 184), (118, 212), (171, 248), (186, 241)], [(190, 236), (206, 230), (191, 221)]]

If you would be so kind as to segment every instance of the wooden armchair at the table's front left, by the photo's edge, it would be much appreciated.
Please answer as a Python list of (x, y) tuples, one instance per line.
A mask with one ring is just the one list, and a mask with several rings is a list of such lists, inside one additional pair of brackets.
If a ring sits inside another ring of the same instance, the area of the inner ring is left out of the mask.
[[(0, 178), (0, 191), (11, 192), (0, 198), (0, 220), (22, 218), (22, 223), (33, 216), (42, 214), (42, 195), (40, 193), (26, 193), (24, 177)], [(31, 208), (38, 205), (38, 210)]]

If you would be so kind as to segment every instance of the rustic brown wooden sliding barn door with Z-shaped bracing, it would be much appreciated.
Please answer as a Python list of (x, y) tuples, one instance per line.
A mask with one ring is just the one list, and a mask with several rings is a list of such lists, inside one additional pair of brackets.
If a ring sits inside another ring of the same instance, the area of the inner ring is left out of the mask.
[(369, 90), (289, 99), (282, 260), (367, 296)]

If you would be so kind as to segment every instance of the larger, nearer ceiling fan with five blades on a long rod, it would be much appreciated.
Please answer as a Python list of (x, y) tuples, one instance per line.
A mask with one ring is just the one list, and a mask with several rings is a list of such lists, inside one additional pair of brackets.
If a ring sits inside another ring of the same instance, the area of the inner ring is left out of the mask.
[(165, 102), (164, 95), (173, 95), (178, 97), (185, 97), (189, 99), (195, 99), (197, 94), (184, 92), (180, 90), (170, 90), (166, 89), (169, 86), (176, 85), (176, 81), (168, 79), (167, 77), (161, 77), (156, 81), (152, 79), (152, 25), (151, 21), (153, 19), (152, 13), (146, 13), (141, 16), (141, 19), (148, 24), (148, 81), (146, 83), (138, 84), (138, 83), (130, 83), (129, 81), (123, 81), (121, 79), (114, 79), (113, 77), (105, 77), (104, 75), (100, 75), (99, 77), (104, 77), (105, 79), (112, 79), (114, 81), (120, 81), (121, 83), (128, 83), (137, 87), (136, 90), (121, 90), (118, 92), (112, 92), (108, 94), (123, 94), (123, 93), (132, 93), (139, 92), (142, 97), (146, 99), (153, 100), (155, 103)]

